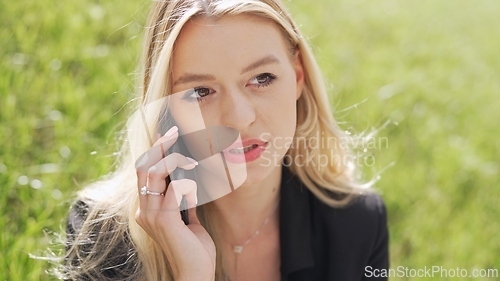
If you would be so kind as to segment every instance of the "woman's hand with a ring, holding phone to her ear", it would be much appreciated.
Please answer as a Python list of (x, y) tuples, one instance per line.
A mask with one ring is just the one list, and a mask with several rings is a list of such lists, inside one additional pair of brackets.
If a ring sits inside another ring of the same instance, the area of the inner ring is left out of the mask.
[[(178, 128), (172, 127), (136, 162), (140, 206), (137, 223), (162, 248), (172, 267), (175, 280), (214, 280), (215, 245), (196, 216), (196, 182), (165, 179), (176, 168), (191, 170), (195, 160), (178, 153), (164, 155), (177, 140)], [(141, 188), (163, 195), (141, 195)], [(189, 208), (189, 225), (179, 213), (182, 196)]]

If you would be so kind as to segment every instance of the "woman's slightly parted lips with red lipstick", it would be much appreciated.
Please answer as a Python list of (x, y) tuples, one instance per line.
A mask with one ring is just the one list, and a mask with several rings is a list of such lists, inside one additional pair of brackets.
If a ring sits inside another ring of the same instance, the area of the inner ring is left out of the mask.
[(266, 150), (268, 142), (259, 139), (244, 139), (236, 141), (224, 150), (224, 157), (234, 164), (252, 162), (257, 160)]

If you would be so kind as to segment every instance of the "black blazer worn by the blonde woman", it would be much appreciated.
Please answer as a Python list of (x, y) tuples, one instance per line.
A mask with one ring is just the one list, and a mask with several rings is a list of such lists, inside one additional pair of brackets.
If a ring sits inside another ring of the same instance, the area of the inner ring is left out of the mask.
[[(318, 200), (301, 181), (283, 168), (280, 202), (282, 281), (387, 280), (368, 278), (374, 269), (388, 269), (386, 211), (378, 195), (359, 196), (337, 209)], [(77, 235), (89, 204), (78, 201), (67, 224), (68, 240)], [(100, 232), (98, 235), (106, 235)], [(82, 246), (82, 251), (92, 252)], [(77, 261), (70, 261), (78, 266)], [(129, 280), (136, 269), (137, 254), (124, 237), (105, 264), (90, 275), (98, 280)], [(368, 271), (365, 272), (366, 267)], [(82, 276), (78, 280), (87, 280)]]

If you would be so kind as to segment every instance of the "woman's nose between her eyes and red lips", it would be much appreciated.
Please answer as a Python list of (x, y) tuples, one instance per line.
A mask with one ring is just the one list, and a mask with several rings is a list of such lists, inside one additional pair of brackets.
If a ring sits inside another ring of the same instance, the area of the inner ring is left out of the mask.
[(221, 113), (224, 126), (240, 131), (250, 126), (256, 118), (255, 104), (252, 97), (239, 89), (233, 89), (225, 95)]

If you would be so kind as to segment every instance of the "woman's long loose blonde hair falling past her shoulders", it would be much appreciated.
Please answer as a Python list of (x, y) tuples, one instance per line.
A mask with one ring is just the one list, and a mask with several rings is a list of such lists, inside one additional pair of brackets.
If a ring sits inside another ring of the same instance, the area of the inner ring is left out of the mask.
[[(348, 136), (333, 118), (321, 72), (307, 41), (280, 0), (165, 0), (155, 1), (152, 5), (145, 37), (139, 107), (169, 92), (174, 44), (184, 24), (190, 19), (245, 14), (270, 20), (280, 28), (291, 53), (299, 51), (305, 75), (304, 90), (297, 102), (296, 142), (289, 149), (285, 157), (288, 161), (284, 165), (289, 166), (317, 198), (333, 207), (345, 206), (356, 194), (366, 190), (355, 180), (355, 167), (344, 161), (350, 151), (339, 144)], [(154, 115), (159, 112), (150, 112), (146, 116), (148, 130), (144, 129), (140, 116), (130, 118), (127, 131), (129, 138), (122, 150), (121, 166), (106, 179), (79, 193), (79, 197), (90, 202), (88, 204), (91, 206), (81, 229), (70, 239), (65, 256), (67, 262), (60, 270), (64, 278), (86, 276), (91, 280), (105, 280), (99, 275), (99, 265), (113, 255), (117, 245), (124, 243), (123, 237), (128, 237), (125, 243), (135, 249), (128, 256), (134, 263), (127, 268), (130, 270), (127, 272), (128, 279), (173, 279), (169, 262), (161, 248), (135, 221), (139, 201), (133, 162), (149, 149), (147, 131), (156, 131), (158, 115)], [(322, 140), (320, 144), (318, 136)], [(314, 139), (312, 143), (309, 141)], [(304, 155), (308, 155), (311, 161), (307, 165), (297, 165), (293, 161)], [(328, 165), (320, 163), (322, 155), (328, 157)], [(200, 206), (198, 215), (217, 245), (219, 236), (215, 220), (211, 219), (211, 208), (211, 203)], [(216, 280), (225, 280), (223, 257), (221, 251), (217, 253)], [(110, 263), (109, 260), (107, 262)]]

